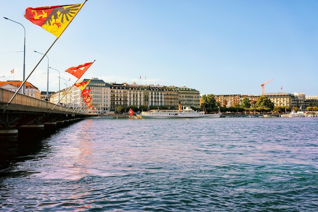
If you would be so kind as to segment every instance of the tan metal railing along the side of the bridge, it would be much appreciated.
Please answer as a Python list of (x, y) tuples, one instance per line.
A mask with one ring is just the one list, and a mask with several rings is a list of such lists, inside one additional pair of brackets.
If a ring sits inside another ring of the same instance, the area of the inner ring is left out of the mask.
[[(14, 94), (15, 93), (12, 92), (11, 90), (0, 88), (0, 102), (3, 104), (7, 104), (11, 100)], [(49, 110), (51, 110), (55, 106), (55, 104), (51, 102), (40, 100), (34, 97), (29, 97), (23, 94), (17, 94), (15, 98), (11, 101), (11, 104), (31, 106), (31, 107), (43, 108), (43, 109), (49, 109)], [(54, 111), (73, 112), (74, 109), (68, 110), (67, 107), (56, 105), (54, 108)], [(81, 112), (76, 110), (74, 111), (74, 113), (81, 113)]]

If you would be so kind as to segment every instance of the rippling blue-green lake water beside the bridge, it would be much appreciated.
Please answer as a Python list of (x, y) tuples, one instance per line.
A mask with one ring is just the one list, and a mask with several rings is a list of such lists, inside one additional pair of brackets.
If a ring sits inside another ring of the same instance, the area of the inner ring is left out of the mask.
[(85, 119), (0, 141), (0, 211), (318, 210), (318, 118)]

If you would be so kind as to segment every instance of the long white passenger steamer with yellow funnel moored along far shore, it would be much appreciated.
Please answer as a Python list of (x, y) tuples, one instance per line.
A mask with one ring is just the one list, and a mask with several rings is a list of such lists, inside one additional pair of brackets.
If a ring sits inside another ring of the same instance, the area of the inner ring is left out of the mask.
[(196, 111), (190, 107), (181, 109), (179, 103), (179, 110), (150, 110), (142, 111), (137, 114), (138, 118), (219, 118), (221, 113), (206, 114), (205, 112)]

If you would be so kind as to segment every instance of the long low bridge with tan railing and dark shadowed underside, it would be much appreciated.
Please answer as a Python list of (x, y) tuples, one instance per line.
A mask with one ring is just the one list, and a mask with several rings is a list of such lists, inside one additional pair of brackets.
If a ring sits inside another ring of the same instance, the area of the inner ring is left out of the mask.
[(89, 116), (80, 110), (55, 106), (22, 94), (17, 94), (8, 104), (14, 94), (11, 90), (0, 88), (0, 135), (16, 134), (19, 130), (42, 130)]

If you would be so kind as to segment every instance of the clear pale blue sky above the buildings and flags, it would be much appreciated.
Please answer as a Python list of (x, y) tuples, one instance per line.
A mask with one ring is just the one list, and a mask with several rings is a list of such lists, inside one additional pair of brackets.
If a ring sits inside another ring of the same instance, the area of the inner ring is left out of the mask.
[[(83, 1), (12, 0), (0, 3), (0, 80), (22, 80), (55, 36), (24, 18), (27, 7)], [(318, 1), (89, 0), (48, 52), (65, 70), (96, 62), (83, 78), (106, 82), (187, 86), (204, 94), (304, 93), (318, 96)], [(15, 74), (10, 71), (15, 69)], [(140, 79), (141, 76), (141, 79)], [(145, 79), (146, 77), (146, 79)], [(47, 87), (47, 58), (28, 79)], [(65, 87), (65, 80), (61, 80)], [(282, 89), (281, 89), (282, 87)], [(49, 70), (49, 90), (58, 72)]]

